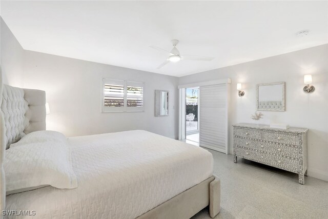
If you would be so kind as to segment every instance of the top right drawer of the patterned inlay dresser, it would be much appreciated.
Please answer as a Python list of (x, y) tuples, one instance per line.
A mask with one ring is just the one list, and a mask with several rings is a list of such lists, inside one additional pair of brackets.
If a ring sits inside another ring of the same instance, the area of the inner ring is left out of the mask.
[(268, 132), (263, 131), (263, 139), (268, 142), (276, 142), (286, 145), (298, 146), (298, 135), (296, 134), (286, 134), (282, 132)]

